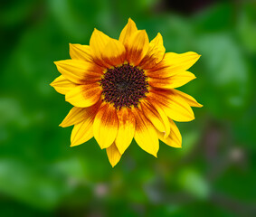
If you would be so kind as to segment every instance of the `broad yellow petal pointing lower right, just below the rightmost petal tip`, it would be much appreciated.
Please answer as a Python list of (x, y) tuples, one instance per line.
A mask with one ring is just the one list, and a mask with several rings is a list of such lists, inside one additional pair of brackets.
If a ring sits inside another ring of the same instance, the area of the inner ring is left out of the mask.
[(191, 121), (194, 119), (194, 112), (184, 99), (171, 94), (170, 91), (150, 90), (147, 94), (154, 104), (160, 106), (171, 119), (175, 121)]

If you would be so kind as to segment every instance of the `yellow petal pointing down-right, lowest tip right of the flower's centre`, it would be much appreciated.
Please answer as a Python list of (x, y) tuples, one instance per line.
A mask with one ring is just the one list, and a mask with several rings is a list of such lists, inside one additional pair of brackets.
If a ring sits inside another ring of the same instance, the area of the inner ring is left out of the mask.
[(139, 109), (133, 109), (133, 114), (136, 118), (134, 138), (137, 145), (147, 153), (157, 156), (159, 141), (155, 127)]

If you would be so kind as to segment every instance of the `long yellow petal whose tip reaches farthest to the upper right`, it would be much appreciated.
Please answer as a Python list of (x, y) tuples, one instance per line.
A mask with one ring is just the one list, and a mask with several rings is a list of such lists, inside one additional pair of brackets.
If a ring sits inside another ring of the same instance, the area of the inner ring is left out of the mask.
[(196, 52), (175, 53), (166, 52), (164, 59), (155, 67), (146, 71), (147, 76), (153, 78), (168, 78), (179, 72), (188, 70), (201, 55)]

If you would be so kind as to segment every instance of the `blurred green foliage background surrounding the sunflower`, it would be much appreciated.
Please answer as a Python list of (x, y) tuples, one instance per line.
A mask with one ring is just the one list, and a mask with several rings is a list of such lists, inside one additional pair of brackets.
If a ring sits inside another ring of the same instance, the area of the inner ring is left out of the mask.
[[(133, 142), (112, 169), (94, 138), (70, 147), (49, 84), (69, 42), (118, 38), (128, 17), (166, 52), (202, 54), (180, 90), (204, 108), (177, 124), (182, 149)], [(1, 1), (0, 32), (0, 216), (256, 216), (255, 1)]]

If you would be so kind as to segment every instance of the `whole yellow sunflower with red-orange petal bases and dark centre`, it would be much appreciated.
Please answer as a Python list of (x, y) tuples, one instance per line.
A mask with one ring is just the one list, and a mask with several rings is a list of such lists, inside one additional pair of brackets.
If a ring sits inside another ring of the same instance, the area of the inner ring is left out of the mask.
[(128, 24), (119, 40), (94, 29), (90, 45), (70, 44), (71, 60), (55, 61), (61, 76), (52, 87), (74, 107), (60, 124), (74, 125), (71, 146), (95, 137), (117, 165), (133, 137), (156, 156), (159, 139), (181, 147), (175, 121), (191, 121), (194, 98), (175, 90), (194, 80), (187, 71), (200, 57), (195, 52), (166, 52), (160, 33), (149, 42), (145, 30)]

